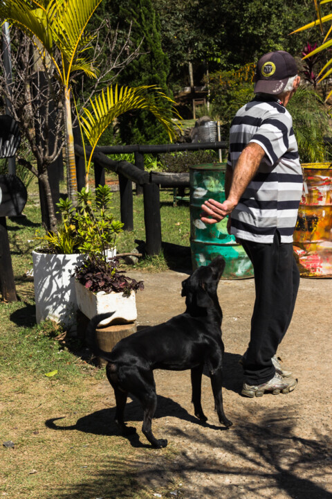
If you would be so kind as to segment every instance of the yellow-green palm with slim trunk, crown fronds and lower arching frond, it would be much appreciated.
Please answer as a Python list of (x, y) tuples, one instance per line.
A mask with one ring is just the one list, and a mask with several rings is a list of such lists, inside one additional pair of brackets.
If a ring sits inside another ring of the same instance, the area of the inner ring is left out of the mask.
[[(93, 60), (89, 58), (89, 44), (92, 39), (91, 36), (85, 34), (85, 30), (100, 2), (101, 0), (0, 1), (0, 17), (19, 27), (30, 37), (39, 52), (44, 67), (47, 68), (49, 64), (53, 64), (57, 78), (62, 84), (66, 125), (68, 197), (71, 199), (77, 191), (71, 120), (71, 76), (74, 71), (83, 71), (89, 78), (95, 78), (98, 74), (98, 70), (93, 67)], [(95, 112), (94, 122), (91, 121), (93, 114), (85, 111), (90, 123), (89, 133), (93, 134), (92, 129), (95, 128), (98, 130), (96, 137), (99, 138), (99, 131), (103, 127), (99, 123), (100, 119), (102, 123), (110, 122), (126, 110), (145, 107), (154, 112), (172, 139), (175, 134), (172, 119), (167, 117), (167, 114), (163, 113), (162, 110), (149, 104), (149, 100), (142, 96), (141, 90), (145, 91), (146, 89), (147, 87), (144, 89), (142, 87), (136, 91), (122, 91), (121, 98), (116, 98), (113, 110), (111, 110), (111, 101), (108, 101), (106, 114), (100, 114), (97, 103), (99, 101), (95, 101), (96, 105), (91, 102), (93, 112)], [(162, 94), (162, 97), (169, 100), (165, 94)]]

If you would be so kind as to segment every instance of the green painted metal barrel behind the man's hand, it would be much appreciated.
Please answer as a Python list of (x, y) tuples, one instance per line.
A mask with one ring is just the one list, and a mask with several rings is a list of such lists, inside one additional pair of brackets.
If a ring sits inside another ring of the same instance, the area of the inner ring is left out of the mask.
[(190, 246), (192, 267), (209, 265), (221, 254), (226, 266), (222, 279), (253, 277), (252, 264), (243, 247), (228, 234), (227, 218), (216, 224), (201, 220), (201, 205), (205, 200), (225, 201), (225, 163), (190, 166)]

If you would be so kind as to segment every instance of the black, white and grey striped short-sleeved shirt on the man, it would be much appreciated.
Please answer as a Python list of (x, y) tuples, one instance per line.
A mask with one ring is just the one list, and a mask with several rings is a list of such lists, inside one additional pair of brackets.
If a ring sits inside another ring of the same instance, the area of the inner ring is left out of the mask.
[(256, 97), (235, 115), (228, 155), (233, 170), (249, 142), (258, 143), (265, 155), (232, 211), (231, 234), (272, 243), (278, 230), (282, 243), (292, 243), (302, 195), (302, 168), (291, 114), (273, 96), (269, 100)]

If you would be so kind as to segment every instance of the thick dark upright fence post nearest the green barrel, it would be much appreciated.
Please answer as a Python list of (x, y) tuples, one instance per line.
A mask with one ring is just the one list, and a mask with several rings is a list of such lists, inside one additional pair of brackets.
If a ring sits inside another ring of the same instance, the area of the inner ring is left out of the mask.
[(144, 222), (147, 255), (161, 251), (160, 193), (158, 184), (144, 184)]

